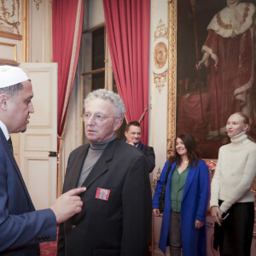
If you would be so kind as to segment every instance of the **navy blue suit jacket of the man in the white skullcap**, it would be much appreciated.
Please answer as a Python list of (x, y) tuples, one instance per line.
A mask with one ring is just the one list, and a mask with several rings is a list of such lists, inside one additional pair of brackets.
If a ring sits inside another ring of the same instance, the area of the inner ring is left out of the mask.
[(39, 255), (39, 241), (55, 239), (55, 214), (35, 211), (0, 128), (0, 255)]

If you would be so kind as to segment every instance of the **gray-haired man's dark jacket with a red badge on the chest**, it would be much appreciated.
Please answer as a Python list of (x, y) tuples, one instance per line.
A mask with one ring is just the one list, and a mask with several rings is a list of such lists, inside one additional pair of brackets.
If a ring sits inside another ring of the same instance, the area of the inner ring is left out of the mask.
[[(89, 144), (69, 156), (63, 192), (75, 188)], [(151, 189), (145, 156), (119, 139), (105, 148), (83, 185), (82, 212), (60, 225), (58, 253), (66, 256), (147, 255)], [(98, 199), (108, 189), (108, 200)]]

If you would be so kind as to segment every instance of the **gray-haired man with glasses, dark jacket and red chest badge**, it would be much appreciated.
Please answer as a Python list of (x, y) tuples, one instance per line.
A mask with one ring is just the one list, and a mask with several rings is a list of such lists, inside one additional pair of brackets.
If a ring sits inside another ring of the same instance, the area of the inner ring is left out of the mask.
[(151, 189), (145, 156), (116, 138), (125, 106), (109, 90), (84, 100), (89, 144), (73, 150), (63, 192), (85, 186), (86, 207), (60, 225), (57, 255), (143, 256), (148, 253)]

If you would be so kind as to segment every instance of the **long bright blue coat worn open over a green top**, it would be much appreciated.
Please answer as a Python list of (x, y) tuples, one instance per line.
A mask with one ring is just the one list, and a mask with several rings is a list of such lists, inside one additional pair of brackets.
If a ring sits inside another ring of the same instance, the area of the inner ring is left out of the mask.
[[(169, 246), (169, 224), (171, 214), (171, 177), (177, 162), (172, 164), (166, 183), (166, 197), (164, 216), (160, 231), (160, 249), (166, 253)], [(166, 180), (169, 160), (161, 172), (156, 184), (153, 197), (153, 208), (159, 208), (159, 198)], [(198, 161), (196, 167), (189, 167), (188, 177), (183, 190), (181, 206), (181, 233), (183, 244), (183, 256), (207, 255), (207, 231), (204, 224), (201, 229), (195, 230), (195, 219), (206, 221), (207, 206), (209, 200), (209, 170), (203, 160)]]

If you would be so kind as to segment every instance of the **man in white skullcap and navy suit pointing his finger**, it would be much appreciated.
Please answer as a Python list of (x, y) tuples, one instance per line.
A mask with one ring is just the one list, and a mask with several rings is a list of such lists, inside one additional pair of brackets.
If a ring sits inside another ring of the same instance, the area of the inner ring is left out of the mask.
[(69, 190), (49, 209), (35, 211), (12, 153), (9, 134), (26, 131), (32, 105), (32, 83), (20, 67), (0, 66), (0, 255), (40, 255), (40, 241), (55, 241), (57, 224), (81, 211)]

